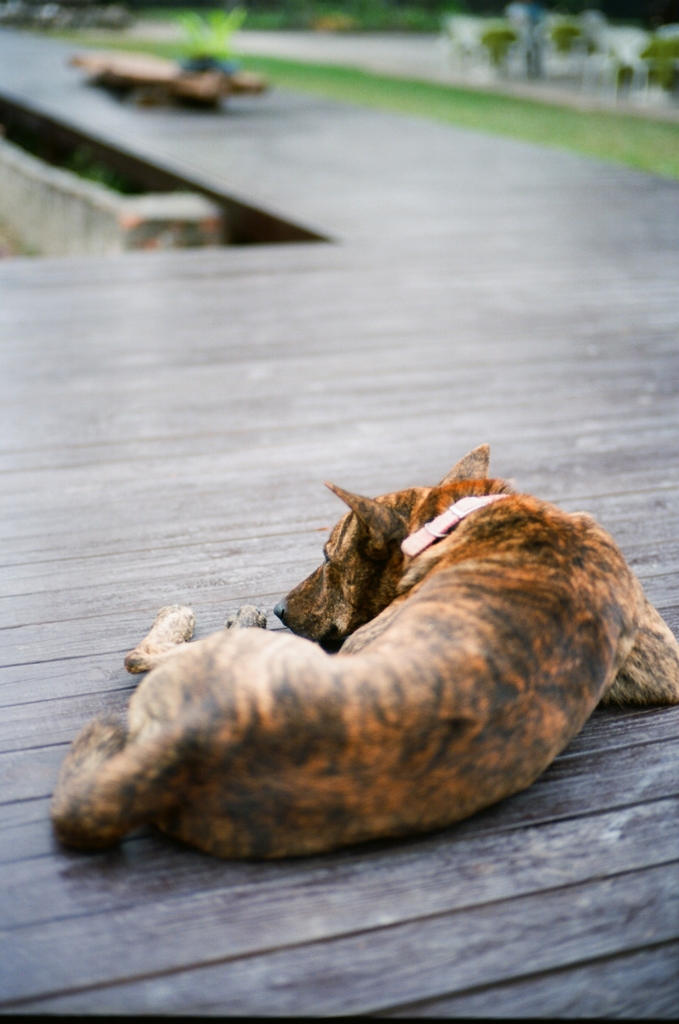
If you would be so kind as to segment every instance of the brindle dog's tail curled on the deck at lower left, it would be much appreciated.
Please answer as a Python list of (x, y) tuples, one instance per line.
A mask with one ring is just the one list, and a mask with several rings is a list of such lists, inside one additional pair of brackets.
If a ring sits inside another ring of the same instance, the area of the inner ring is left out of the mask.
[(113, 717), (90, 722), (74, 740), (52, 797), (58, 839), (99, 849), (169, 810), (178, 800), (179, 776), (188, 771), (183, 745), (170, 732), (129, 741)]

